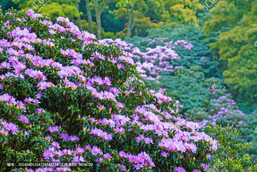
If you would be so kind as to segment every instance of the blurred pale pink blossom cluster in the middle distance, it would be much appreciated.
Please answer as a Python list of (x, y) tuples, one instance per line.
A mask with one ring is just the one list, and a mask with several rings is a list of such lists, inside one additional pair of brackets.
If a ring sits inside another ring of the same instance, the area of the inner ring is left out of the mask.
[[(159, 38), (158, 38), (159, 39)], [(180, 56), (176, 51), (172, 50), (168, 45), (169, 42), (164, 42), (165, 38), (160, 38), (161, 42), (165, 46), (156, 46), (155, 48), (146, 48), (144, 52), (140, 48), (135, 47), (133, 44), (126, 41), (121, 41), (120, 38), (113, 39), (102, 39), (100, 43), (111, 44), (119, 46), (121, 50), (132, 53), (133, 60), (136, 61), (137, 70), (140, 76), (146, 80), (155, 80), (160, 78), (161, 74), (172, 73), (176, 68), (183, 68), (183, 66), (173, 66), (173, 60), (179, 60)], [(149, 44), (155, 42), (156, 39), (150, 39)], [(174, 43), (173, 48), (176, 46), (182, 46), (184, 49), (191, 50), (193, 45), (185, 40), (177, 40)]]

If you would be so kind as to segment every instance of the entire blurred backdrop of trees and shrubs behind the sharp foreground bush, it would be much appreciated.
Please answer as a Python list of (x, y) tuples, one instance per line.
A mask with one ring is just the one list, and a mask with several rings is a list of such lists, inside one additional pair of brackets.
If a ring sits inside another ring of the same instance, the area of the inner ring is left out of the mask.
[(242, 133), (237, 141), (254, 146), (248, 151), (255, 162), (257, 2), (213, 2), (0, 0), (0, 5), (3, 11), (33, 9), (52, 21), (68, 17), (102, 43), (135, 54), (149, 89), (166, 89), (181, 102), (179, 114), (203, 127), (236, 126)]

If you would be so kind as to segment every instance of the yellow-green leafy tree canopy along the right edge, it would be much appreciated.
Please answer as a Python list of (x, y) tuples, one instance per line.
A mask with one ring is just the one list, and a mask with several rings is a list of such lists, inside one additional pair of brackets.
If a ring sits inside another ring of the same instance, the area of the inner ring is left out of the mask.
[(222, 1), (213, 11), (210, 20), (204, 23), (208, 37), (217, 37), (210, 44), (227, 69), (223, 76), (231, 85), (231, 92), (241, 108), (254, 111), (257, 107), (256, 92), (256, 1)]

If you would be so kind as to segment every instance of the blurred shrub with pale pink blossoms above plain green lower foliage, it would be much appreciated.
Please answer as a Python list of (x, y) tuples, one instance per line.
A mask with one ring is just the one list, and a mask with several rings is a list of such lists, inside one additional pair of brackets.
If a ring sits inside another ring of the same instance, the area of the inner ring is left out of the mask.
[[(135, 39), (139, 38), (135, 37)], [(147, 37), (141, 38), (138, 44), (131, 44), (121, 39), (100, 40), (104, 44), (114, 43), (121, 50), (132, 53), (132, 59), (137, 65), (136, 69), (140, 72), (140, 76), (146, 79), (146, 87), (153, 90), (165, 88), (170, 95), (178, 98), (184, 105), (181, 113), (199, 107), (206, 110), (204, 106), (208, 104), (209, 96), (206, 88), (210, 83), (205, 82), (203, 67), (206, 67), (204, 64), (209, 60), (206, 57), (190, 56), (190, 54), (197, 53), (192, 52), (193, 45), (185, 40), (177, 40), (172, 47), (170, 47), (171, 43), (166, 41), (166, 38), (150, 39)], [(149, 47), (145, 48), (145, 46)]]

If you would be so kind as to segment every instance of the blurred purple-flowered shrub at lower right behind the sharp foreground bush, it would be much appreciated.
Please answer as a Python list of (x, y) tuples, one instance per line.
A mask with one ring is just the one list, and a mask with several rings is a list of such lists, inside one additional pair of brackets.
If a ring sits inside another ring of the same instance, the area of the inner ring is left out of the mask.
[[(219, 125), (222, 128), (225, 126), (234, 126), (234, 129), (240, 131), (241, 135), (236, 135), (234, 138), (238, 144), (244, 144), (246, 142), (252, 145), (249, 149), (246, 149), (252, 158), (252, 162), (256, 163), (257, 160), (257, 137), (254, 133), (255, 127), (257, 127), (257, 120), (255, 118), (256, 111), (251, 114), (246, 114), (242, 110), (239, 110), (236, 102), (232, 100), (230, 93), (225, 93), (225, 89), (210, 90), (214, 99), (209, 100), (208, 111), (203, 109), (188, 110), (184, 115), (179, 114), (180, 117), (186, 120), (192, 120), (197, 122), (200, 127), (204, 128), (208, 125)], [(242, 155), (240, 152), (239, 155)]]

